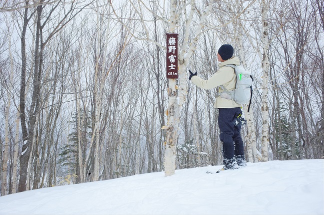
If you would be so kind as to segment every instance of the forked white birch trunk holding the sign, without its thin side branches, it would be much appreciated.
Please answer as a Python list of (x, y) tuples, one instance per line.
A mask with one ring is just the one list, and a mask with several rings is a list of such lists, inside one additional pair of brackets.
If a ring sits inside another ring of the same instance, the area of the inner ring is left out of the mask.
[[(170, 0), (170, 23), (168, 33), (176, 33), (176, 26), (178, 23), (179, 15), (176, 14), (175, 9), (177, 8), (176, 0)], [(185, 8), (185, 6), (183, 6)], [(180, 120), (180, 109), (182, 107), (183, 102), (185, 101), (185, 95), (187, 93), (187, 73), (186, 66), (188, 60), (192, 56), (193, 52), (196, 50), (198, 37), (201, 33), (201, 29), (203, 23), (211, 11), (212, 4), (207, 3), (207, 7), (203, 13), (201, 13), (201, 17), (199, 20), (199, 25), (195, 31), (195, 37), (192, 42), (189, 44), (189, 32), (190, 32), (190, 24), (193, 17), (194, 12), (194, 1), (190, 2), (190, 11), (185, 24), (185, 32), (183, 38), (183, 44), (181, 45), (181, 50), (178, 55), (178, 74), (179, 74), (179, 86), (176, 89), (176, 80), (169, 79), (169, 87), (168, 87), (168, 120), (166, 126), (166, 145), (165, 145), (165, 155), (164, 155), (164, 170), (165, 176), (170, 176), (175, 173), (175, 149), (177, 143), (177, 131), (178, 124)], [(182, 10), (184, 10), (182, 8)], [(181, 11), (180, 11), (181, 12)], [(179, 12), (178, 12), (179, 13)], [(178, 47), (179, 48), (179, 47)], [(188, 51), (186, 51), (188, 50)]]

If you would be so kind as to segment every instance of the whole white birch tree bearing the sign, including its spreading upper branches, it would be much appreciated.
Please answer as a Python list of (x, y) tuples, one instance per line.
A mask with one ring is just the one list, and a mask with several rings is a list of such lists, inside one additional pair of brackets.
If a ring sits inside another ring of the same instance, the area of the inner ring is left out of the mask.
[[(159, 14), (154, 13), (145, 2), (139, 0), (137, 1), (137, 5), (135, 2), (129, 1), (131, 6), (134, 8), (135, 16), (138, 16), (138, 20), (140, 22), (140, 26), (143, 27), (144, 32), (141, 35), (144, 37), (139, 36), (140, 34), (136, 35), (133, 30), (127, 28), (127, 30), (132, 34), (132, 36), (138, 40), (145, 40), (152, 42), (159, 47), (165, 49), (163, 45), (161, 45), (158, 41), (155, 41), (149, 35), (149, 24), (145, 23), (144, 21), (144, 12), (146, 10), (150, 14), (157, 16), (160, 21), (162, 21), (162, 25), (167, 33), (179, 33), (179, 27), (181, 19), (184, 18), (185, 23), (183, 26), (183, 35), (182, 44), (178, 44), (178, 80), (176, 79), (168, 79), (168, 108), (167, 108), (167, 124), (163, 126), (163, 129), (166, 129), (166, 142), (165, 142), (165, 152), (164, 152), (164, 170), (165, 176), (169, 176), (174, 174), (175, 172), (175, 154), (176, 154), (176, 144), (178, 138), (178, 126), (180, 120), (180, 110), (182, 104), (185, 100), (185, 95), (187, 92), (187, 72), (186, 67), (188, 65), (189, 59), (192, 56), (193, 52), (195, 51), (198, 38), (202, 32), (204, 21), (211, 11), (212, 4), (210, 2), (206, 2), (203, 6), (203, 9), (199, 11), (195, 4), (195, 1), (176, 1), (170, 0), (168, 4), (166, 2), (162, 3), (162, 5), (158, 5), (157, 1), (153, 1), (153, 6), (157, 9)], [(110, 4), (113, 7), (112, 2)], [(165, 7), (169, 7), (169, 16), (167, 16), (168, 10)], [(113, 9), (113, 12), (116, 14), (116, 11)], [(194, 15), (198, 16), (198, 23), (193, 23)], [(116, 14), (117, 15), (117, 14)], [(118, 17), (118, 15), (117, 15)], [(118, 17), (121, 23), (122, 20)], [(192, 27), (195, 27), (195, 32), (193, 33), (193, 38), (189, 41), (190, 34)]]

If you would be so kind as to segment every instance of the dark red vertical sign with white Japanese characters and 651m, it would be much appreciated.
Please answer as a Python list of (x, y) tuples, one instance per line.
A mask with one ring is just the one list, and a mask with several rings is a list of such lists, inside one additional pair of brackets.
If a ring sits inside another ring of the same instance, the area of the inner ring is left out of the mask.
[(166, 34), (166, 78), (178, 78), (177, 39), (178, 34)]

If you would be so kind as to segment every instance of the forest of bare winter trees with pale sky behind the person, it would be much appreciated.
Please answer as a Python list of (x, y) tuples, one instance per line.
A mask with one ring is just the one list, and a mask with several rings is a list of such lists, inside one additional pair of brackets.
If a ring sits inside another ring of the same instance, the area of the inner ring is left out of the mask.
[[(322, 158), (323, 8), (320, 0), (1, 1), (0, 195), (164, 171), (165, 148), (175, 169), (220, 165), (218, 90), (196, 88), (187, 70), (215, 73), (222, 44), (254, 77), (243, 108), (247, 161)], [(165, 76), (166, 33), (178, 33), (177, 80)]]

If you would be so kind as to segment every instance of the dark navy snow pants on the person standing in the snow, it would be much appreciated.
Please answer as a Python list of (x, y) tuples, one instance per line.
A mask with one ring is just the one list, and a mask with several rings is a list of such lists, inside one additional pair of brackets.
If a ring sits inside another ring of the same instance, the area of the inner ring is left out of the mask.
[(239, 107), (218, 108), (219, 139), (223, 143), (223, 156), (227, 159), (234, 155), (244, 155), (244, 144), (240, 135), (241, 124), (234, 125), (239, 114), (241, 114)]

